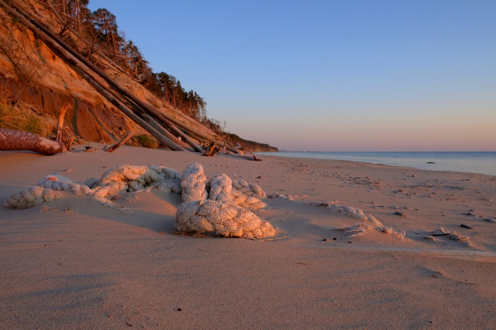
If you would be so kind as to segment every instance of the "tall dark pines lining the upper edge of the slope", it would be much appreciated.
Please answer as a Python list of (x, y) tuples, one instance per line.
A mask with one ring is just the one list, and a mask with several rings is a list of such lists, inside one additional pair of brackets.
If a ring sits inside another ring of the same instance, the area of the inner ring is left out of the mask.
[[(205, 122), (207, 117), (204, 99), (193, 90), (186, 92), (176, 77), (165, 72), (154, 73), (138, 47), (131, 40), (126, 40), (124, 33), (119, 31), (116, 16), (105, 8), (91, 12), (87, 8), (88, 2), (54, 1), (53, 6), (64, 16), (71, 18), (63, 20), (65, 26), (62, 27), (61, 37), (67, 32), (66, 41), (89, 59), (95, 51), (103, 52), (129, 77), (140, 82), (150, 92), (191, 118)], [(76, 32), (79, 40), (75, 40), (69, 32)]]

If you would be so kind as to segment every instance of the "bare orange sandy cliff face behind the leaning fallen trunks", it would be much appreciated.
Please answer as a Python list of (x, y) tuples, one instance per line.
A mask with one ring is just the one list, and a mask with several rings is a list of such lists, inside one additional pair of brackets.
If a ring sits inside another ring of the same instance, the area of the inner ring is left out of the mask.
[[(50, 19), (43, 7), (36, 8)], [(22, 104), (42, 122), (45, 135), (57, 125), (64, 103), (70, 104), (64, 124), (84, 140), (119, 141), (127, 133), (145, 131), (97, 93), (33, 33), (0, 9), (0, 98)], [(107, 74), (143, 99), (160, 103), (142, 86), (102, 65)]]

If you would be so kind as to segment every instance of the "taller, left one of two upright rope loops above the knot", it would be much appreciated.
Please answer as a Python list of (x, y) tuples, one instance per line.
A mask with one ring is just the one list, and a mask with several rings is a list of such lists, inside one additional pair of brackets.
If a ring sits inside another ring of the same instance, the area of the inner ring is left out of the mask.
[(182, 178), (183, 202), (207, 198), (207, 192), (205, 190), (207, 178), (203, 174), (203, 166), (201, 164), (193, 163), (186, 166)]

